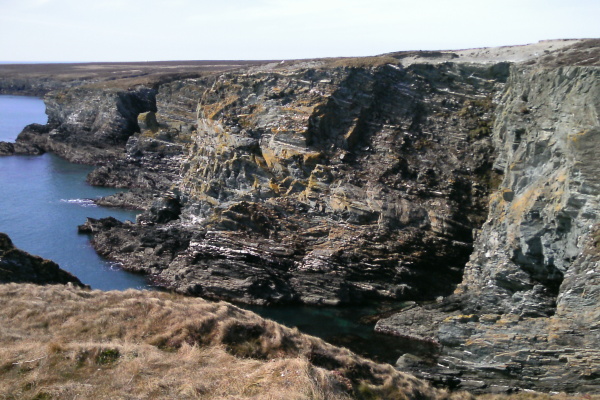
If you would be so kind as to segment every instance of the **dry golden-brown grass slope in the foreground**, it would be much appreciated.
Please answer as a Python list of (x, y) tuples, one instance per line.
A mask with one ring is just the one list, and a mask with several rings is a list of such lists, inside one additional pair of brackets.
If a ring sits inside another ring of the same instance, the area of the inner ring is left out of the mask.
[(0, 285), (0, 399), (442, 399), (228, 303)]

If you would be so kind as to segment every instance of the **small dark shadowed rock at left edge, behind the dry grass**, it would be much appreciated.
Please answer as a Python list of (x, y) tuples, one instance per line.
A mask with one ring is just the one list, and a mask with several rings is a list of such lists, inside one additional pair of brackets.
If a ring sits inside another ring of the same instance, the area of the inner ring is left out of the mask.
[(8, 235), (0, 233), (0, 283), (10, 282), (88, 287), (56, 263), (17, 249)]

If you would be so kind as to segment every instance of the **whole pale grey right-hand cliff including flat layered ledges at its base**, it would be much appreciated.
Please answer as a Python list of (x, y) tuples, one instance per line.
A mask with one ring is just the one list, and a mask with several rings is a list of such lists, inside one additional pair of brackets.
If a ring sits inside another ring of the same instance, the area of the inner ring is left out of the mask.
[(440, 343), (441, 380), (598, 392), (600, 70), (514, 67), (499, 104), (504, 179), (463, 282), (377, 329)]

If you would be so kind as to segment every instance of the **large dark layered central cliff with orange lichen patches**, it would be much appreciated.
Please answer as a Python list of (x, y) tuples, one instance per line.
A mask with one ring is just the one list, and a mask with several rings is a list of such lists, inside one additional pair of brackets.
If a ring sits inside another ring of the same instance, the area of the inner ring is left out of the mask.
[[(386, 65), (173, 83), (200, 100), (181, 183), (95, 246), (167, 287), (249, 303), (450, 294), (487, 213), (507, 75)], [(157, 239), (171, 233), (174, 248)]]

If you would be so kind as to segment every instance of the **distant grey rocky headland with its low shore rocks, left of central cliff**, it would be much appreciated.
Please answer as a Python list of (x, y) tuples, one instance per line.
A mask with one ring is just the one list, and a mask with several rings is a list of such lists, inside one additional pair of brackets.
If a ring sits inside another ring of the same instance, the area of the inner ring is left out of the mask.
[[(44, 98), (48, 123), (27, 126), (16, 143), (0, 143), (0, 155), (51, 151), (72, 162), (97, 165), (88, 183), (133, 189), (99, 204), (148, 209), (155, 197), (178, 182), (190, 142), (191, 127), (156, 113), (157, 101), (163, 110), (177, 107), (169, 103), (173, 99), (164, 98), (157, 100), (156, 89), (141, 86), (50, 92)], [(195, 104), (187, 112), (195, 116)]]

